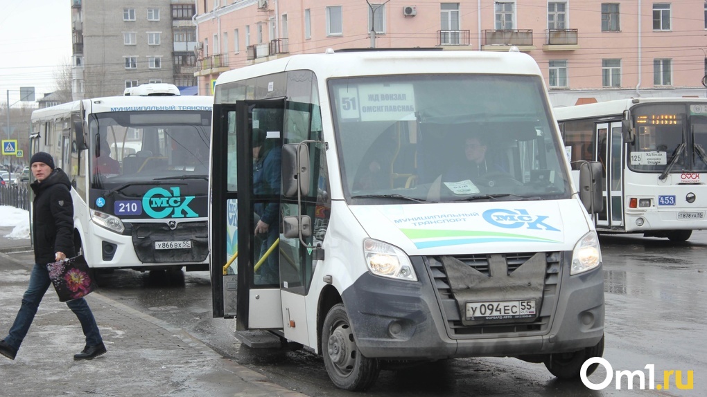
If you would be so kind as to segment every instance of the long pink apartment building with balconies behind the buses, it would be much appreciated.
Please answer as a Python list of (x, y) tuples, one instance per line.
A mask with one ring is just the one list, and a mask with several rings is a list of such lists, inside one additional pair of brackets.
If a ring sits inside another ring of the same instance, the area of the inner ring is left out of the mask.
[(707, 92), (703, 0), (368, 1), (197, 0), (199, 94), (223, 71), (327, 48), (512, 46), (554, 106)]

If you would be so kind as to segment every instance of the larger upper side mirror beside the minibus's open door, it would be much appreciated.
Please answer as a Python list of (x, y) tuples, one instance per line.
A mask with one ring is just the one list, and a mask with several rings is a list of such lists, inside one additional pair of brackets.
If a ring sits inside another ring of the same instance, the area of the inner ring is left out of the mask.
[(282, 194), (285, 197), (309, 194), (309, 147), (303, 143), (282, 145)]

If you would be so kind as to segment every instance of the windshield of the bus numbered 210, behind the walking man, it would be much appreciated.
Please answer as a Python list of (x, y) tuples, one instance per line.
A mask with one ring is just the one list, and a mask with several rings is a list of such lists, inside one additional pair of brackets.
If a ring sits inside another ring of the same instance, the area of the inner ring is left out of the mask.
[(208, 177), (210, 111), (92, 114), (88, 128), (93, 189)]

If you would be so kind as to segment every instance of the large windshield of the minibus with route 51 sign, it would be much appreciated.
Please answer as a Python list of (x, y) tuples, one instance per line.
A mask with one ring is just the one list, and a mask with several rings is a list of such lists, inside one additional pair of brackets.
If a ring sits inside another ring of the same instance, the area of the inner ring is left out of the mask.
[(340, 78), (329, 93), (354, 203), (569, 197), (537, 76)]

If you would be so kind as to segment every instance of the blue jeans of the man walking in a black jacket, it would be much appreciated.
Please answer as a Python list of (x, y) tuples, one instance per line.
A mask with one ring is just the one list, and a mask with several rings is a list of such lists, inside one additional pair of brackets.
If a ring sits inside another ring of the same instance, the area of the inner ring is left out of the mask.
[[(32, 275), (30, 276), (30, 285), (25, 291), (25, 295), (22, 297), (22, 305), (20, 311), (15, 317), (15, 322), (12, 324), (10, 329), (10, 334), (5, 338), (5, 342), (12, 346), (13, 348), (20, 348), (23, 339), (27, 335), (27, 331), (32, 325), (32, 321), (35, 319), (35, 314), (37, 314), (37, 309), (40, 307), (40, 302), (44, 297), (47, 288), (52, 284), (49, 279), (49, 271), (47, 267), (41, 264), (35, 264), (32, 269)], [(93, 318), (93, 313), (88, 307), (88, 303), (83, 298), (69, 300), (66, 302), (66, 306), (69, 306), (78, 321), (81, 322), (81, 328), (83, 329), (83, 335), (86, 336), (86, 345), (95, 346), (103, 342), (100, 337), (100, 332), (98, 331), (98, 325), (95, 324), (95, 319)]]

